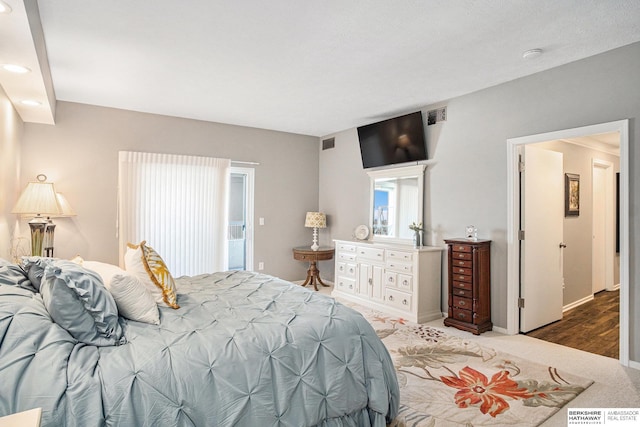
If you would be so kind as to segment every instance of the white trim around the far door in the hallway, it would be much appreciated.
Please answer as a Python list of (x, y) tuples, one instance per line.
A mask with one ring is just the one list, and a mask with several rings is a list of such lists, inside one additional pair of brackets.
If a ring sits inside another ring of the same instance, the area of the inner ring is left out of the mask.
[[(613, 163), (607, 161), (607, 160), (602, 160), (602, 159), (597, 159), (597, 158), (593, 158), (591, 159), (591, 204), (592, 204), (592, 209), (595, 210), (596, 208), (596, 200), (595, 197), (593, 197), (593, 194), (595, 193), (595, 174), (594, 174), (594, 169), (602, 169), (604, 171), (604, 180), (605, 180), (605, 194), (604, 194), (604, 223), (605, 223), (605, 235), (603, 236), (604, 239), (604, 274), (605, 274), (605, 282), (604, 282), (604, 290), (605, 291), (612, 291), (614, 290), (614, 273), (613, 273), (613, 269), (614, 269), (614, 258), (615, 258), (615, 230), (616, 230), (616, 223), (615, 223), (615, 208), (614, 208), (614, 203), (615, 203), (615, 183), (614, 183), (614, 179), (613, 179)], [(591, 218), (593, 224), (591, 226), (591, 230), (593, 232), (594, 230), (594, 225), (595, 225), (595, 216)], [(594, 250), (593, 247), (591, 249), (591, 270), (593, 271), (593, 259), (594, 259)], [(593, 273), (591, 274), (591, 290), (593, 292)]]

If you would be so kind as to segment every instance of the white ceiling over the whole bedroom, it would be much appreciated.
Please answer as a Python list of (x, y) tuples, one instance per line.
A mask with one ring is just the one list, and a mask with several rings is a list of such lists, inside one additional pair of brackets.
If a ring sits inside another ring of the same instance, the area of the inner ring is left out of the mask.
[[(16, 46), (33, 37), (35, 0), (4, 1), (0, 63), (33, 69), (33, 41)], [(640, 41), (638, 0), (41, 0), (39, 11), (57, 100), (315, 136)], [(532, 48), (543, 55), (524, 60)], [(14, 104), (39, 91), (47, 109), (46, 84), (16, 80), (0, 72)]]

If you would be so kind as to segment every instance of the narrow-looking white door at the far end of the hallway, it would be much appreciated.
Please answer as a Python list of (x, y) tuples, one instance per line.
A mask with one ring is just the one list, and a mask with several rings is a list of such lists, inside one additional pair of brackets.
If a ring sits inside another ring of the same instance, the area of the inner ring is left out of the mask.
[(605, 169), (594, 165), (593, 167), (593, 236), (591, 242), (591, 283), (593, 293), (603, 291), (606, 287), (605, 268)]

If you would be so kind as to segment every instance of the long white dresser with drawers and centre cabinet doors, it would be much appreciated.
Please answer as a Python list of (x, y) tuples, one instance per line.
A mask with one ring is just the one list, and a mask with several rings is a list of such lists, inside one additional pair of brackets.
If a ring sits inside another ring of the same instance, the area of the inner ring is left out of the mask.
[(442, 248), (334, 242), (332, 296), (418, 323), (442, 317)]

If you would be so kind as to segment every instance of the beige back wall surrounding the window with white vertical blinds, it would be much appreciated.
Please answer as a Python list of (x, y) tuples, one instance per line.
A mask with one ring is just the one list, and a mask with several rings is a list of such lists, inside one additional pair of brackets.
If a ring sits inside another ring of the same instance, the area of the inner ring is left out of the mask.
[(317, 138), (58, 102), (56, 125), (27, 123), (23, 139), (21, 182), (46, 174), (78, 214), (56, 220), (57, 257), (117, 264), (118, 151), (177, 153), (259, 162), (256, 269), (262, 261), (268, 274), (306, 275), (308, 266), (293, 260), (291, 248), (311, 239), (304, 216), (318, 208)]

